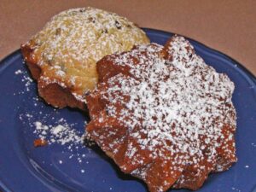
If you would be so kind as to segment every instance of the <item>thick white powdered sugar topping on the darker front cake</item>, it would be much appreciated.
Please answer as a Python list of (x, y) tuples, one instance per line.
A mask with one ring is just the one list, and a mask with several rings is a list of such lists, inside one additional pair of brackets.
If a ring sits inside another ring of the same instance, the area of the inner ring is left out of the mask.
[(118, 119), (139, 144), (128, 143), (126, 157), (137, 162), (137, 151), (148, 150), (153, 159), (175, 158), (172, 164), (180, 172), (202, 160), (216, 163), (218, 148), (227, 159), (236, 160), (234, 84), (195, 55), (189, 41), (176, 36), (165, 49), (141, 45), (108, 58), (114, 65), (129, 67), (128, 76), (119, 73), (103, 83), (107, 90), (100, 90), (102, 99), (109, 101), (108, 115)]

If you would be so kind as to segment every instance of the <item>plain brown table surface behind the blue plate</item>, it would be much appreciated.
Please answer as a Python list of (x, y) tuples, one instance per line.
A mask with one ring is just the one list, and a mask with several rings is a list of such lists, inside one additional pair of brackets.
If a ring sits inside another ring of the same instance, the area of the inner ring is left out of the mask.
[(118, 13), (139, 26), (194, 38), (256, 74), (255, 0), (1, 0), (0, 59), (19, 49), (61, 10), (85, 6)]

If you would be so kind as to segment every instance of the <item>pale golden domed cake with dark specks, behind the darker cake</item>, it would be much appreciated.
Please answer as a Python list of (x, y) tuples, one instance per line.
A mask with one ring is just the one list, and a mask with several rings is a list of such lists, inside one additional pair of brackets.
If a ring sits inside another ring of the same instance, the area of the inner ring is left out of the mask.
[(69, 9), (55, 15), (21, 51), (39, 95), (57, 107), (84, 110), (84, 96), (97, 83), (96, 61), (148, 44), (131, 21), (101, 9)]

